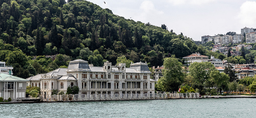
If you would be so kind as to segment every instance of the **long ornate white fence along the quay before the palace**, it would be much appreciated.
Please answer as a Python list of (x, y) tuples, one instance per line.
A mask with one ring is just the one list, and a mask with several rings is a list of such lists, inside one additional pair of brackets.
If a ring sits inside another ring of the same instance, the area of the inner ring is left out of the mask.
[(163, 94), (68, 94), (68, 95), (44, 95), (41, 99), (46, 101), (90, 101), (90, 100), (139, 100), (139, 99), (181, 99), (199, 98), (199, 93), (163, 93)]

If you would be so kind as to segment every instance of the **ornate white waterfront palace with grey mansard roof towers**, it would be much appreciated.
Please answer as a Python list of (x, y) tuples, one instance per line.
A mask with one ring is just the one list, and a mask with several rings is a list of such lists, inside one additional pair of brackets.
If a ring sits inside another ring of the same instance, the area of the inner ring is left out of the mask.
[(51, 95), (52, 90), (67, 92), (68, 86), (79, 87), (80, 94), (154, 94), (155, 80), (150, 79), (148, 65), (142, 62), (103, 67), (89, 65), (88, 61), (70, 61), (68, 68), (59, 68), (46, 74), (27, 78), (27, 85), (41, 88), (41, 94)]

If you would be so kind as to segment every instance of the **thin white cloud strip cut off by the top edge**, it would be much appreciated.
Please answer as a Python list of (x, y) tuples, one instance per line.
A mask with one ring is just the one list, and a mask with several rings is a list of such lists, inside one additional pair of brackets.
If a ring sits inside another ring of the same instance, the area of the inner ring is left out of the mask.
[(173, 5), (181, 5), (181, 4), (192, 4), (192, 5), (202, 5), (206, 3), (210, 3), (215, 0), (169, 0), (169, 3)]

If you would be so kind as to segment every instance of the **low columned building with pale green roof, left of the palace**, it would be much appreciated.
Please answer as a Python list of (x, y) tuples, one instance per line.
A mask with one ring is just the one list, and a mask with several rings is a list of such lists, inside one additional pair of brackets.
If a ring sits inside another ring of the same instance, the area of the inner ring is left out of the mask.
[(26, 83), (29, 80), (0, 73), (0, 97), (20, 99), (26, 96)]

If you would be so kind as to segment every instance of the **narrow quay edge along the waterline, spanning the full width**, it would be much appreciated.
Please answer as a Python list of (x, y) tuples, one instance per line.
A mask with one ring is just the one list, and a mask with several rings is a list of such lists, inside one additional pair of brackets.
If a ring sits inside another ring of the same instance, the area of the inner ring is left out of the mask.
[[(160, 99), (207, 99), (207, 98), (256, 98), (256, 96), (248, 95), (227, 95), (227, 96), (217, 96), (217, 95), (204, 95), (204, 98), (160, 98)], [(127, 100), (159, 100), (159, 99), (127, 99)], [(125, 100), (125, 101), (127, 101)], [(18, 103), (54, 103), (54, 102), (96, 102), (96, 101), (123, 101), (123, 100), (52, 100), (52, 101), (22, 101), (22, 102), (0, 102), (0, 104), (18, 104)]]

